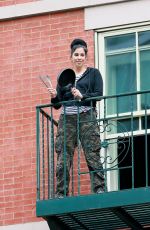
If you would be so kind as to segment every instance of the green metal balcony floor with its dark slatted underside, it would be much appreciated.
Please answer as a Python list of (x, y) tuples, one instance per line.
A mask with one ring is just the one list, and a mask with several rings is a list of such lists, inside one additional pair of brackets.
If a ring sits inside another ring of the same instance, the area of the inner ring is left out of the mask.
[(150, 188), (38, 201), (37, 216), (51, 230), (139, 230), (150, 226)]

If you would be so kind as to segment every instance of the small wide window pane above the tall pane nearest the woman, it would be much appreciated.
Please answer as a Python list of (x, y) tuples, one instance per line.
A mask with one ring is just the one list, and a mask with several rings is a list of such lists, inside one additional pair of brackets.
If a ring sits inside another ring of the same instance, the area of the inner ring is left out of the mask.
[(105, 39), (106, 52), (133, 47), (135, 47), (135, 34), (118, 35)]

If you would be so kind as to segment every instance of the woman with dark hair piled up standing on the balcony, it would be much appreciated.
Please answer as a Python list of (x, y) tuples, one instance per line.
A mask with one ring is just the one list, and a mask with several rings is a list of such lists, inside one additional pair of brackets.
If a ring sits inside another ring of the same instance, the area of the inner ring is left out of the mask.
[[(56, 136), (56, 197), (63, 197), (69, 193), (70, 168), (72, 166), (73, 154), (77, 145), (77, 135), (84, 150), (87, 166), (90, 171), (92, 190), (95, 193), (104, 191), (104, 175), (100, 162), (100, 135), (96, 122), (96, 100), (84, 100), (89, 97), (98, 97), (103, 94), (103, 81), (98, 69), (86, 67), (87, 44), (82, 39), (74, 39), (71, 43), (71, 61), (76, 75), (75, 85), (71, 88), (70, 97), (59, 118), (58, 131)], [(51, 102), (64, 101), (61, 90), (57, 86), (56, 90), (49, 89)], [(79, 106), (73, 102), (77, 99)], [(65, 132), (64, 132), (65, 116)], [(91, 120), (92, 117), (92, 120)], [(77, 124), (79, 123), (79, 129)], [(87, 121), (87, 122), (86, 122)], [(92, 121), (92, 122), (90, 122)], [(64, 135), (66, 150), (66, 180), (64, 180)], [(88, 147), (89, 146), (89, 147)], [(93, 173), (92, 173), (93, 172)]]

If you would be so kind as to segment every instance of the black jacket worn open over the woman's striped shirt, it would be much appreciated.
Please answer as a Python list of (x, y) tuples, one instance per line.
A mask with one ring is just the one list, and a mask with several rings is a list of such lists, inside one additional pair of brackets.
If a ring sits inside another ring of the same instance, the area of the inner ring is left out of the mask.
[[(65, 96), (64, 92), (62, 92), (62, 89), (60, 87), (56, 87), (57, 90), (57, 96), (55, 98), (51, 99), (51, 102), (53, 103), (53, 106), (55, 109), (59, 109), (61, 107), (60, 104), (56, 104), (61, 101), (66, 101), (66, 106), (72, 106), (80, 103), (84, 106), (90, 106), (90, 101), (85, 101), (84, 99), (90, 98), (90, 97), (98, 97), (103, 95), (103, 80), (102, 76), (98, 69), (88, 67), (87, 70), (84, 72), (82, 77), (77, 81), (76, 88), (80, 91), (80, 93), (83, 95), (83, 98), (81, 102), (74, 101), (73, 95), (71, 92), (67, 92), (67, 97)], [(66, 99), (67, 98), (67, 99)], [(96, 101), (93, 100), (92, 105), (96, 106)]]

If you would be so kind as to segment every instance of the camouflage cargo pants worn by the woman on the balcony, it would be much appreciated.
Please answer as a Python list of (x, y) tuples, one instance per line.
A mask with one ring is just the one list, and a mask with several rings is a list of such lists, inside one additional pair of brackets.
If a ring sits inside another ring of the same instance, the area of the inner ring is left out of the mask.
[(104, 189), (103, 168), (100, 162), (99, 126), (95, 112), (90, 110), (79, 115), (60, 116), (55, 143), (57, 152), (56, 194), (68, 195), (69, 193), (70, 168), (73, 163), (74, 150), (77, 147), (77, 139), (80, 139), (85, 154), (92, 190), (96, 192), (99, 188)]

